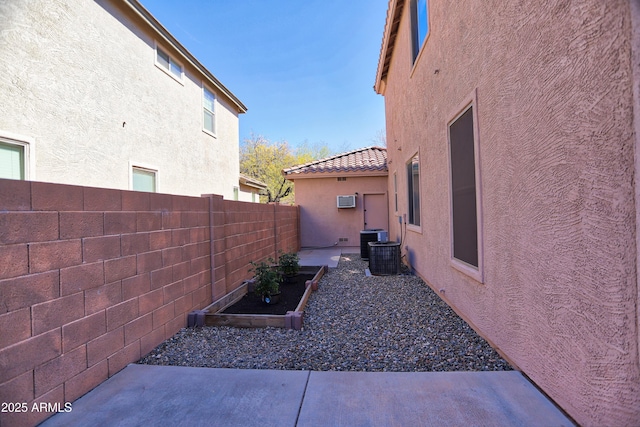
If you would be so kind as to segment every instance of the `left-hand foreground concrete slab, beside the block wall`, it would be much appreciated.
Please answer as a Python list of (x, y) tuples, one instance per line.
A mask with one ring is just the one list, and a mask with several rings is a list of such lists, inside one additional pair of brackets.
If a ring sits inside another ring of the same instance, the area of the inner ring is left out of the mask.
[(308, 376), (129, 365), (41, 426), (293, 426)]

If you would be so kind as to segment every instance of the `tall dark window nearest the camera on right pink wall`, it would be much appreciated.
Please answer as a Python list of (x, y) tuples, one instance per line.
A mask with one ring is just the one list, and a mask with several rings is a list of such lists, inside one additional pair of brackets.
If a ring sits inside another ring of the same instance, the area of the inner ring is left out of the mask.
[(473, 107), (449, 125), (453, 258), (479, 268)]

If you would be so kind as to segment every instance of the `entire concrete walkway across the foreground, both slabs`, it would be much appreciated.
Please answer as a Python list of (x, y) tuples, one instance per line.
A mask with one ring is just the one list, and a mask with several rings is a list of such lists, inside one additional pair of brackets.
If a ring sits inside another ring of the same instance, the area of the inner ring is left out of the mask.
[(42, 426), (571, 426), (519, 372), (129, 365)]

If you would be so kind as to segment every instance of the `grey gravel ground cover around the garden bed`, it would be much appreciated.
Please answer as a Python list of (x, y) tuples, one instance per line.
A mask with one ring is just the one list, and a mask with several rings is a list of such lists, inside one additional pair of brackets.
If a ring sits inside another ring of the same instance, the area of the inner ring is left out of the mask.
[(412, 275), (366, 277), (343, 255), (307, 303), (303, 330), (182, 329), (138, 363), (314, 371), (504, 371), (511, 366)]

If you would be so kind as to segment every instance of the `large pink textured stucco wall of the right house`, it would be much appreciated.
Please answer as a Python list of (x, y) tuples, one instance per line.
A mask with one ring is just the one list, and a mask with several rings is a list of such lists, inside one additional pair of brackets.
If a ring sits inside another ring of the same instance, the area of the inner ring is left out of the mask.
[[(584, 425), (640, 423), (630, 3), (430, 0), (415, 67), (405, 7), (384, 93), (399, 215), (420, 156), (413, 267)], [(450, 261), (447, 123), (472, 99), (484, 283)]]

